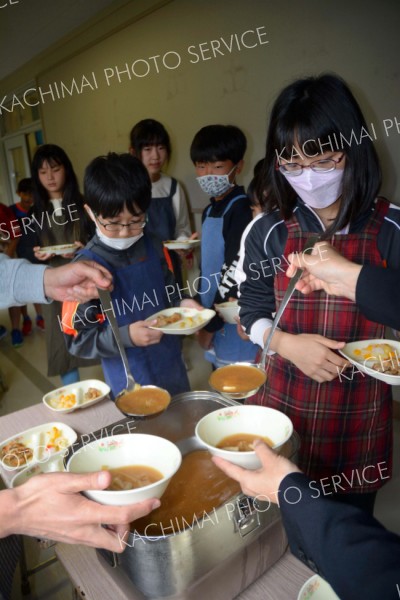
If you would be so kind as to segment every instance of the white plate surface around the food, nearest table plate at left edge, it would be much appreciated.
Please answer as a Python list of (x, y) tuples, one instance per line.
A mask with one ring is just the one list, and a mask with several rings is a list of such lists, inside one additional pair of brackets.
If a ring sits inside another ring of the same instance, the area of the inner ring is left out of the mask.
[[(57, 427), (57, 429), (60, 430), (61, 436), (63, 438), (62, 440), (60, 440), (62, 442), (62, 447), (60, 447), (59, 450), (55, 450), (54, 448), (47, 448), (47, 445), (51, 442), (51, 430), (53, 427)], [(77, 437), (78, 436), (76, 432), (68, 425), (65, 425), (65, 423), (52, 422), (45, 423), (44, 425), (37, 425), (36, 427), (31, 427), (30, 429), (27, 429), (22, 433), (17, 433), (16, 435), (9, 437), (3, 442), (0, 442), (0, 450), (2, 450), (2, 448), (10, 442), (16, 441), (21, 444), (24, 444), (24, 446), (30, 448), (33, 451), (32, 458), (28, 462), (24, 462), (20, 466), (9, 466), (5, 464), (3, 460), (0, 460), (0, 464), (7, 471), (19, 471), (20, 469), (25, 468), (27, 466), (31, 466), (35, 463), (45, 463), (49, 460), (49, 458), (56, 456), (57, 454), (64, 454), (66, 448), (68, 448), (68, 446), (71, 446), (71, 444), (76, 442)]]

